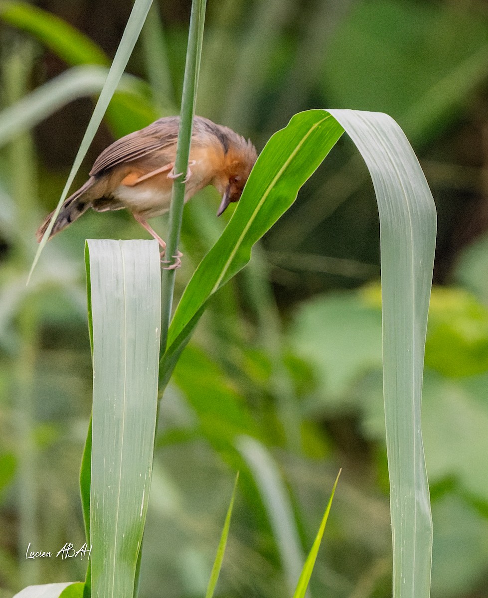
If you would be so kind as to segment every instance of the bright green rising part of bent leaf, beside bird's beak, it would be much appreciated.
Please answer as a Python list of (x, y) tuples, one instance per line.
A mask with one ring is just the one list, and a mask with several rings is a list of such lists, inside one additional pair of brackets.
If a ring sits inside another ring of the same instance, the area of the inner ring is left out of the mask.
[[(185, 289), (169, 329), (169, 355), (196, 325), (209, 297), (248, 263), (251, 248), (291, 206), (301, 185), (331, 150), (343, 129), (322, 110), (295, 115), (275, 133), (258, 157), (224, 233), (200, 263)], [(173, 346), (174, 344), (174, 346)], [(171, 363), (163, 356), (161, 377)]]

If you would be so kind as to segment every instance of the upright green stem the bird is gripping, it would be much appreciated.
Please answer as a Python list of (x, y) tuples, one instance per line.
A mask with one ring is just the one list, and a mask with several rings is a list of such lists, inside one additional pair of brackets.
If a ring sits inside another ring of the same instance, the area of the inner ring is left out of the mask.
[[(181, 173), (173, 184), (171, 207), (169, 210), (169, 234), (166, 256), (172, 260), (179, 245), (179, 234), (185, 203), (185, 177), (190, 157), (191, 130), (195, 114), (195, 100), (202, 56), (203, 23), (205, 22), (206, 0), (193, 0), (191, 4), (190, 32), (188, 33), (187, 62), (181, 98), (181, 118), (179, 123), (178, 143), (176, 145), (175, 172)], [(175, 290), (175, 270), (163, 270), (162, 309), (161, 309), (161, 352), (166, 350), (167, 331), (173, 306)]]

